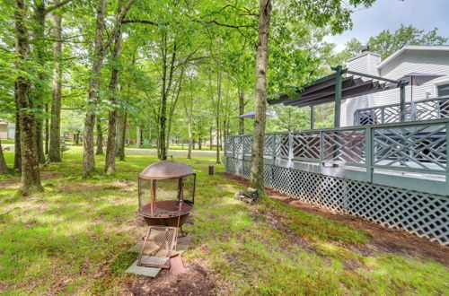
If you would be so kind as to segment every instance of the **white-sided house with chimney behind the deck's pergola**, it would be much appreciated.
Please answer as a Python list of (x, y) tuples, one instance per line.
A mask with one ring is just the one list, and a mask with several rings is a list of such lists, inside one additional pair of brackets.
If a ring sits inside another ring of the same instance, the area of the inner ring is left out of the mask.
[[(405, 46), (383, 61), (370, 51), (347, 61), (349, 70), (399, 80), (409, 73), (441, 74), (420, 86), (413, 86), (413, 101), (449, 95), (449, 46)], [(406, 87), (406, 101), (411, 100), (411, 87)], [(400, 102), (400, 90), (381, 91), (373, 94), (342, 100), (341, 126), (354, 125), (357, 109), (379, 107)]]

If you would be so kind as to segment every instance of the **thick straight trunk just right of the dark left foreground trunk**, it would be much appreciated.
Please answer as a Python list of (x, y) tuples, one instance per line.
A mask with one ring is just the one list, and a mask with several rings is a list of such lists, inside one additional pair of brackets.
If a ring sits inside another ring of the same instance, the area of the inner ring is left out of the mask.
[(61, 52), (62, 52), (62, 19), (57, 13), (53, 14), (53, 58), (55, 68), (53, 69), (53, 100), (51, 102), (51, 125), (50, 146), (48, 160), (51, 162), (61, 161)]

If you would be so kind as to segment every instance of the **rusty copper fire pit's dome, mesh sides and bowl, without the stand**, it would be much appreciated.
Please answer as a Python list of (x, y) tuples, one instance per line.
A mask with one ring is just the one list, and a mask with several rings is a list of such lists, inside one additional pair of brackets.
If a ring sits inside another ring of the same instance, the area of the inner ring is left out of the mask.
[(176, 161), (154, 163), (139, 174), (139, 213), (148, 225), (181, 227), (193, 210), (196, 175)]

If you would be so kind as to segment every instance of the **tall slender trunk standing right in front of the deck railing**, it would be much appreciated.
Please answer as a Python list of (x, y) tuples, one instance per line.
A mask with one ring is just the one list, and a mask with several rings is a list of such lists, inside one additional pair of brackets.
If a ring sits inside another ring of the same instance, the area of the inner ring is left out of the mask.
[(267, 65), (269, 60), (269, 17), (271, 0), (259, 1), (259, 41), (256, 56), (256, 110), (251, 147), (250, 186), (265, 194), (263, 185), (263, 144), (267, 110)]

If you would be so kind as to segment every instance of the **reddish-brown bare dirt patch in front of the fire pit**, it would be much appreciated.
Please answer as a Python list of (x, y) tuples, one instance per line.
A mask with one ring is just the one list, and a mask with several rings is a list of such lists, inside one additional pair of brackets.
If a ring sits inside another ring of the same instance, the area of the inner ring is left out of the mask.
[(186, 265), (185, 274), (172, 275), (163, 270), (155, 278), (139, 276), (128, 286), (133, 295), (216, 295), (216, 283), (206, 268)]

